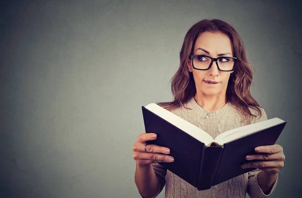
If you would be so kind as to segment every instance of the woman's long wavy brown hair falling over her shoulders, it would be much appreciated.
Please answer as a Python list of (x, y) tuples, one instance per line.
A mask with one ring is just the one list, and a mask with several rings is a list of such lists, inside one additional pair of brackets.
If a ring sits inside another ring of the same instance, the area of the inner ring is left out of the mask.
[[(179, 69), (171, 79), (174, 101), (157, 104), (169, 111), (179, 107), (186, 108), (184, 104), (195, 95), (195, 82), (193, 74), (188, 70), (187, 60), (189, 56), (193, 54), (196, 39), (201, 33), (206, 31), (221, 32), (227, 35), (233, 44), (233, 55), (237, 57), (238, 60), (234, 72), (230, 75), (228, 87), (226, 88), (226, 101), (235, 106), (235, 108), (245, 116), (247, 123), (250, 124), (252, 117), (262, 116), (260, 106), (250, 92), (253, 80), (252, 69), (254, 70), (254, 68), (248, 63), (245, 47), (238, 32), (230, 24), (219, 19), (201, 20), (189, 29), (179, 53)], [(252, 114), (251, 109), (258, 112), (258, 115)]]

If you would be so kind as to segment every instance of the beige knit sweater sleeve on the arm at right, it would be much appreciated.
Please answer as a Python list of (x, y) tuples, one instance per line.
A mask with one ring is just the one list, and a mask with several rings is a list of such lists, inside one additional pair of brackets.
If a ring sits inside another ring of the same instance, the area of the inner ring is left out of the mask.
[[(267, 120), (267, 115), (266, 115), (264, 109), (261, 108), (261, 110), (262, 110), (263, 115), (261, 116), (261, 118), (255, 119), (255, 121), (254, 121), (255, 123), (257, 123), (257, 122), (262, 122), (262, 121)], [(260, 185), (259, 185), (259, 183), (258, 183), (258, 175), (259, 175), (260, 172), (261, 172), (261, 170), (258, 169), (258, 168), (255, 169), (255, 170), (252, 170), (252, 171), (248, 172), (248, 187), (247, 187), (247, 193), (249, 194), (249, 196), (250, 196), (251, 198), (267, 197), (267, 196), (271, 195), (271, 193), (274, 191), (274, 189), (275, 189), (275, 187), (276, 187), (276, 185), (277, 185), (277, 182), (278, 182), (278, 174), (277, 174), (277, 179), (276, 179), (276, 181), (274, 182), (273, 186), (271, 187), (270, 191), (269, 191), (267, 194), (265, 194), (265, 193), (262, 191), (262, 189), (261, 189), (261, 187), (260, 187)]]

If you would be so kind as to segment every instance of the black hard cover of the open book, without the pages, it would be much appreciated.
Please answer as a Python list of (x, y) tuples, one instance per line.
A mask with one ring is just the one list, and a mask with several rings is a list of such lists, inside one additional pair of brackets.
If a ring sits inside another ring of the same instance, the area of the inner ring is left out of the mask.
[(256, 153), (254, 148), (257, 146), (275, 144), (286, 124), (285, 121), (222, 146), (214, 143), (206, 146), (143, 106), (142, 114), (145, 132), (157, 134), (156, 140), (146, 143), (170, 148), (169, 155), (174, 157), (174, 162), (159, 164), (198, 190), (209, 189), (212, 185), (254, 170), (241, 168), (243, 163), (248, 162), (245, 156)]

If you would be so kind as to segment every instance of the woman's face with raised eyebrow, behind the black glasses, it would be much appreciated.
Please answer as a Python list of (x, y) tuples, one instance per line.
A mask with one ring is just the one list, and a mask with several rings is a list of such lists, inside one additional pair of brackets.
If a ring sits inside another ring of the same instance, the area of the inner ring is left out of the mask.
[[(197, 38), (192, 55), (207, 55), (212, 58), (220, 56), (233, 57), (232, 42), (228, 36), (221, 32), (203, 32)], [(223, 54), (219, 55), (218, 54)], [(219, 64), (219, 60), (218, 60)], [(193, 72), (196, 91), (198, 94), (217, 95), (225, 94), (226, 87), (230, 78), (231, 71), (220, 71), (216, 62), (208, 70), (197, 70), (192, 67), (192, 61), (188, 59), (189, 71)], [(216, 81), (216, 84), (210, 84), (207, 81)]]

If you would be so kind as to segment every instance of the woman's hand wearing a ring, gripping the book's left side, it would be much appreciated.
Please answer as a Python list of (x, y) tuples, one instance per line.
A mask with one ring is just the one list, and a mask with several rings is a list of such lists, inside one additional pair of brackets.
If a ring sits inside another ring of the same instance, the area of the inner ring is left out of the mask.
[[(137, 136), (136, 142), (133, 146), (133, 159), (140, 167), (157, 162), (173, 162), (174, 158), (170, 155), (170, 149), (167, 147), (158, 146), (155, 144), (147, 144), (148, 140), (155, 140), (157, 138), (155, 133), (143, 133)], [(143, 150), (146, 145), (145, 151)]]

